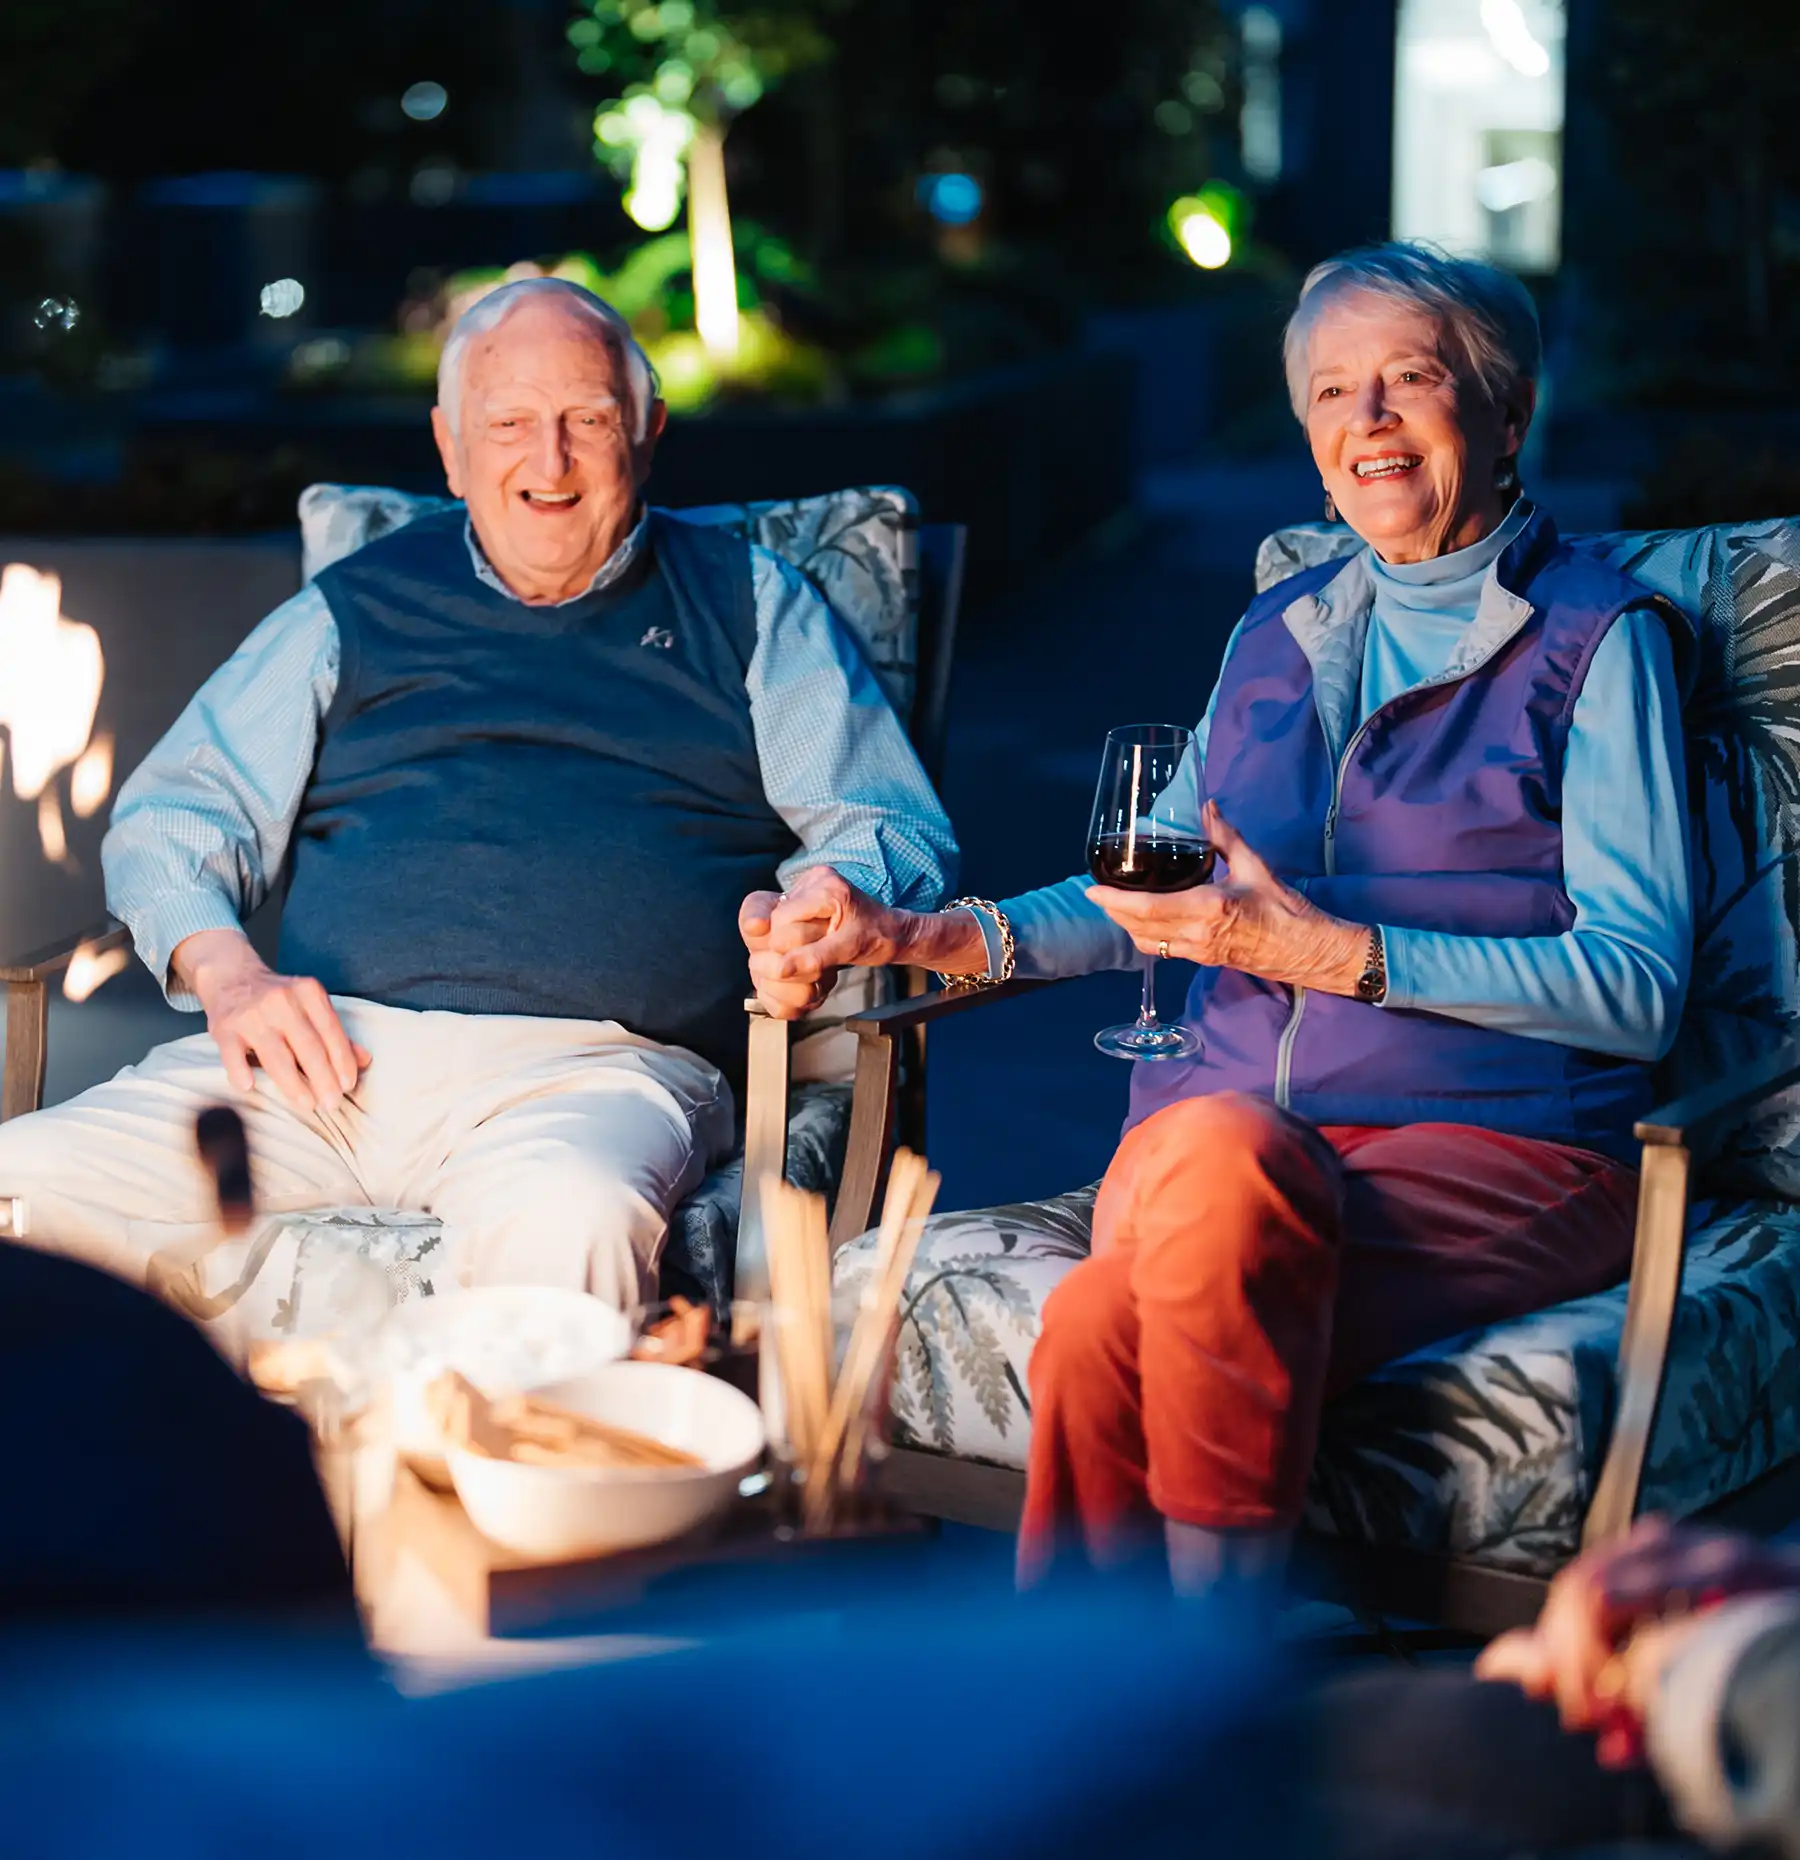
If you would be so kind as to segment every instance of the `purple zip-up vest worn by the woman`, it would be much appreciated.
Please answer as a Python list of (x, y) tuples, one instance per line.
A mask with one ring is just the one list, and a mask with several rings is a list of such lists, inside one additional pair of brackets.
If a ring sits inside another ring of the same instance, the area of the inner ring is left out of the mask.
[[(1607, 629), (1651, 593), (1566, 549), (1540, 515), (1495, 564), (1491, 599), (1447, 671), (1354, 727), (1361, 642), (1341, 627), (1357, 616), (1330, 599), (1344, 569), (1307, 569), (1251, 604), (1220, 677), (1209, 792), (1333, 915), (1560, 936), (1575, 921), (1562, 889), (1569, 718)], [(1201, 969), (1185, 1019), (1203, 1055), (1136, 1066), (1127, 1129), (1181, 1097), (1251, 1092), (1315, 1123), (1475, 1123), (1633, 1159), (1631, 1125), (1649, 1109), (1649, 1071), (1635, 1060), (1237, 969)]]

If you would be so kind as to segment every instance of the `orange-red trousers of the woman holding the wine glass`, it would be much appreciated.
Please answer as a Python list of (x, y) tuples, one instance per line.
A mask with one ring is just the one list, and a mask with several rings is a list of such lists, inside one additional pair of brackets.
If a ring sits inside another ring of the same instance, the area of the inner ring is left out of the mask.
[(1019, 1575), (1119, 1568), (1162, 1520), (1300, 1520), (1324, 1402), (1439, 1337), (1616, 1285), (1636, 1176), (1463, 1123), (1315, 1127), (1190, 1097), (1121, 1144), (1030, 1362)]

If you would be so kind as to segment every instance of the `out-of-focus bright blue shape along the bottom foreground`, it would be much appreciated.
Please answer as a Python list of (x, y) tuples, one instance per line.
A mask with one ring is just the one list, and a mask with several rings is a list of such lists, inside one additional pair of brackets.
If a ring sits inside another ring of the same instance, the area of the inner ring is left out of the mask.
[(15, 1648), (33, 1709), (0, 1748), (7, 1828), (186, 1860), (271, 1828), (337, 1860), (1324, 1853), (1279, 1676), (1222, 1624), (948, 1572), (831, 1600), (695, 1611), (664, 1654), (415, 1700), (244, 1639)]

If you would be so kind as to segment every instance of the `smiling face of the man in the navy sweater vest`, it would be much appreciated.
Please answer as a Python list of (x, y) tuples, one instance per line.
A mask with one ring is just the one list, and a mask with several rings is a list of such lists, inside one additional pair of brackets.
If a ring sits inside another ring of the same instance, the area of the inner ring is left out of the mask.
[(619, 340), (554, 296), (472, 337), (461, 368), (456, 430), (431, 409), (450, 489), (513, 593), (567, 601), (632, 526), (662, 402), (640, 439)]

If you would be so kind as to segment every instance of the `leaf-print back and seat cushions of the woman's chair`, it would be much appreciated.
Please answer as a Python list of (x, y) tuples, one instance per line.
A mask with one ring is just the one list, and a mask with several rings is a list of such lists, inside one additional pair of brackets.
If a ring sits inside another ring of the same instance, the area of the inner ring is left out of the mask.
[[(1696, 627), (1687, 701), (1696, 952), (1659, 1081), (1674, 1097), (1800, 1019), (1800, 521), (1571, 538)], [(1257, 588), (1361, 547), (1300, 525)], [(1800, 1453), (1800, 1094), (1696, 1183), (1644, 1505), (1692, 1512)], [(1023, 1468), (1038, 1313), (1086, 1256), (1093, 1189), (935, 1216), (894, 1380), (902, 1443)], [(839, 1257), (870, 1267), (870, 1241)], [(1625, 1287), (1447, 1339), (1326, 1412), (1315, 1529), (1547, 1574), (1577, 1548), (1616, 1401)]]

